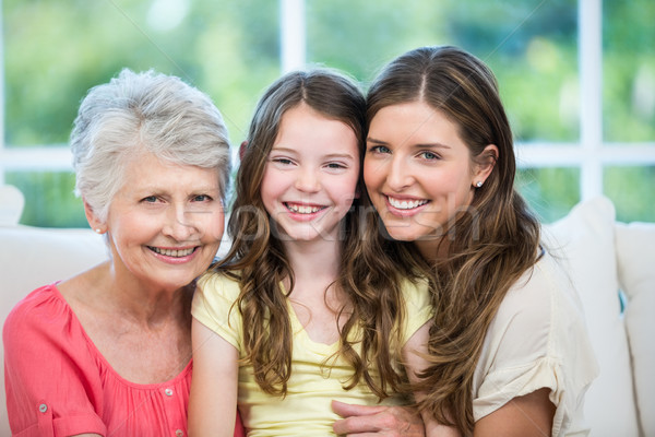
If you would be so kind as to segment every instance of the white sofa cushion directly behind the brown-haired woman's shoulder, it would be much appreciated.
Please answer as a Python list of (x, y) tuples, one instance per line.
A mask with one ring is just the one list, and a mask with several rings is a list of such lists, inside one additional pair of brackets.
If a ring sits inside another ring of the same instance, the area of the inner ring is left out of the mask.
[(636, 436), (628, 339), (619, 300), (615, 210), (606, 198), (579, 203), (544, 227), (549, 249), (577, 288), (599, 365), (585, 399), (592, 435)]

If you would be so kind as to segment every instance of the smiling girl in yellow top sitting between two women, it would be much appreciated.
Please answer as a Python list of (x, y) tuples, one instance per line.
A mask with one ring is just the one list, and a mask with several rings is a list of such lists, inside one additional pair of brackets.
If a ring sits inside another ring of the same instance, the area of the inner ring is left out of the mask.
[(420, 367), (431, 308), (425, 283), (396, 281), (367, 245), (365, 114), (357, 86), (329, 70), (289, 73), (261, 98), (234, 245), (193, 300), (193, 434), (231, 435), (236, 403), (250, 436), (326, 436), (333, 399), (408, 401), (400, 363), (410, 378)]

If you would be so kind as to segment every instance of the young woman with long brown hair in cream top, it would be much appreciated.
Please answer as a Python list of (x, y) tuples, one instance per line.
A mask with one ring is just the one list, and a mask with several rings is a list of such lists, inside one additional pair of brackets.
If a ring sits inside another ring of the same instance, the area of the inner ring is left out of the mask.
[(410, 243), (396, 258), (432, 280), (424, 411), (462, 435), (586, 434), (595, 357), (577, 295), (514, 188), (492, 72), (454, 47), (412, 50), (372, 83), (368, 121), (368, 193), (389, 235)]

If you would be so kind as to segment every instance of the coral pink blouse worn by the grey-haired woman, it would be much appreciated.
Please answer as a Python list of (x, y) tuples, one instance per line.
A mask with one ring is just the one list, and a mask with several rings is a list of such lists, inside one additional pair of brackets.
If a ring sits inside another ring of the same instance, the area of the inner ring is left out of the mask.
[[(140, 385), (105, 361), (56, 284), (32, 292), (3, 328), (7, 410), (14, 437), (187, 435), (192, 363)], [(243, 436), (237, 413), (235, 437)]]

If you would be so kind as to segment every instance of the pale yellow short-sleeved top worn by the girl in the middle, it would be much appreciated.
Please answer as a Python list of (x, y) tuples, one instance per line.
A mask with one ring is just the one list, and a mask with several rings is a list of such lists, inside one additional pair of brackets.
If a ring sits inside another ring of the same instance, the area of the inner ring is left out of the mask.
[[(404, 344), (430, 319), (432, 311), (425, 283), (415, 285), (405, 281), (403, 294), (406, 308), (402, 330)], [(241, 314), (236, 306), (231, 306), (238, 295), (237, 282), (216, 273), (205, 274), (199, 281), (191, 312), (201, 323), (233, 344), (239, 351), (239, 356), (243, 357)], [(241, 365), (238, 408), (243, 425), (248, 436), (334, 435), (332, 424), (340, 417), (332, 412), (332, 400), (377, 404), (378, 398), (366, 383), (360, 383), (353, 390), (344, 390), (342, 385), (352, 377), (353, 370), (343, 359), (333, 357), (338, 351), (338, 342), (330, 345), (313, 342), (305, 332), (290, 304), (288, 308), (294, 332), (294, 356), (287, 395), (281, 398), (264, 393), (254, 381), (252, 366)], [(357, 335), (357, 332), (353, 335)], [(400, 351), (391, 352), (392, 356), (400, 356)], [(329, 365), (324, 364), (326, 361)], [(396, 395), (385, 399), (381, 404), (406, 402), (404, 398)]]

